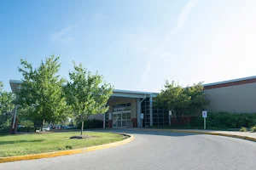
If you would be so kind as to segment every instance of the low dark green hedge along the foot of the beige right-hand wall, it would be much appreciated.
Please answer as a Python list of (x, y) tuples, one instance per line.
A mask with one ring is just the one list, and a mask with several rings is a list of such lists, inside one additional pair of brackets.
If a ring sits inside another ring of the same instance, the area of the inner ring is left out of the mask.
[[(249, 113), (208, 113), (207, 127), (218, 128), (240, 128), (240, 127), (252, 127), (256, 124), (256, 114)], [(196, 117), (191, 125), (194, 127), (203, 126), (203, 118)]]

